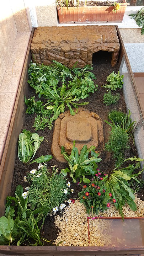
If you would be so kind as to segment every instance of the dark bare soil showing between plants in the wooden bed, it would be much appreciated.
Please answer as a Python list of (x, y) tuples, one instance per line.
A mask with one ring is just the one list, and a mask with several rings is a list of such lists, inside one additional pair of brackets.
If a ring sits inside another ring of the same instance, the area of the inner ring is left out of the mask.
[[(106, 93), (106, 89), (101, 87), (103, 84), (105, 84), (107, 76), (112, 72), (118, 72), (119, 70), (119, 65), (116, 64), (113, 68), (111, 66), (111, 53), (108, 52), (98, 52), (95, 53), (93, 56), (93, 73), (96, 75), (96, 84), (98, 85), (98, 89), (94, 94), (91, 94), (90, 97), (86, 98), (85, 101), (89, 101), (89, 105), (84, 106), (84, 108), (88, 109), (89, 111), (93, 111), (97, 113), (101, 119), (103, 120), (103, 133), (104, 133), (104, 138), (105, 142), (108, 140), (108, 135), (109, 135), (109, 129), (110, 127), (108, 124), (105, 123), (104, 120), (108, 120), (108, 112), (113, 110), (114, 108), (116, 110), (119, 110), (121, 108), (121, 111), (126, 113), (126, 105), (124, 102), (124, 97), (123, 97), (123, 92), (121, 89), (118, 89), (117, 92), (120, 94), (120, 100), (116, 105), (110, 105), (106, 106), (103, 104), (103, 95)], [(35, 95), (35, 91), (30, 87), (29, 95), (28, 97), (31, 97)], [(23, 129), (30, 130), (31, 132), (35, 132), (33, 128), (34, 124), (34, 115), (28, 115), (26, 114), (25, 117), (25, 123), (23, 126)], [(52, 145), (52, 138), (53, 138), (53, 130), (54, 127), (49, 130), (45, 129), (44, 131), (38, 131), (39, 136), (44, 136), (44, 140), (40, 146), (40, 148), (37, 150), (36, 153), (36, 158), (41, 156), (41, 155), (52, 155), (51, 152), (51, 145)], [(98, 168), (105, 172), (108, 173), (113, 170), (114, 168), (114, 160), (112, 159), (111, 154), (107, 153), (104, 151), (102, 148), (98, 149), (101, 151), (100, 157), (102, 158), (102, 161), (98, 164)], [(129, 150), (126, 151), (125, 158), (137, 156), (137, 150), (133, 144), (133, 141), (130, 142), (130, 148)], [(67, 164), (59, 163), (55, 158), (52, 158), (47, 163), (48, 169), (53, 166), (57, 165), (59, 170), (64, 169), (68, 167)], [(12, 191), (11, 195), (14, 195), (16, 186), (18, 184), (21, 184), (23, 188), (27, 186), (27, 183), (23, 181), (23, 176), (27, 176), (28, 172), (32, 169), (37, 169), (38, 164), (31, 164), (31, 165), (23, 165), (18, 157), (16, 157), (15, 161), (15, 169), (14, 169), (14, 177), (12, 180)], [(50, 168), (51, 169), (51, 168)], [(69, 181), (71, 181), (71, 178), (68, 177)], [(72, 183), (72, 182), (71, 182)], [(78, 192), (81, 190), (81, 186), (77, 186), (77, 183), (71, 186), (71, 188), (74, 188), (74, 193), (71, 194), (73, 195), (73, 198), (78, 198)], [(144, 195), (144, 190), (141, 190), (138, 193), (138, 196), (140, 199), (143, 199)], [(58, 235), (58, 229), (54, 226), (54, 217), (47, 217), (45, 224), (42, 229), (42, 237), (46, 238), (47, 240), (51, 240), (52, 242), (57, 238)], [(49, 245), (46, 243), (45, 245)]]

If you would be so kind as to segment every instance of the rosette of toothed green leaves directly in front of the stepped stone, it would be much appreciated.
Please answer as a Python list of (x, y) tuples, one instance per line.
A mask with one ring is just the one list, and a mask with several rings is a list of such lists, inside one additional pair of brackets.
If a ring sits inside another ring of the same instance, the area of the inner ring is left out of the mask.
[[(71, 150), (70, 156), (65, 152), (64, 147), (62, 146), (61, 153), (64, 158), (68, 161), (69, 168), (61, 170), (64, 176), (67, 175), (67, 172), (70, 173), (70, 177), (73, 179), (73, 182), (76, 182), (76, 179), (79, 178), (80, 182), (89, 183), (90, 180), (85, 178), (86, 175), (94, 175), (97, 170), (97, 162), (101, 161), (101, 158), (97, 158), (99, 154), (96, 154), (95, 146), (91, 146), (87, 149), (87, 146), (84, 145), (80, 151), (80, 155), (78, 152), (78, 148), (75, 147), (75, 141), (73, 143), (73, 148)], [(89, 158), (89, 153), (91, 152), (91, 157)]]

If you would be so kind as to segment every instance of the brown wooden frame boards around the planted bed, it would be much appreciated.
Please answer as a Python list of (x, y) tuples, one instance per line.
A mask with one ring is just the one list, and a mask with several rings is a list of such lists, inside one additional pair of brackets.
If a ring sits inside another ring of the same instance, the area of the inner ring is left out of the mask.
[[(119, 42), (121, 45), (119, 52), (119, 64), (121, 64), (122, 56), (127, 53), (124, 49), (124, 44), (121, 40), (121, 36), (118, 31)], [(23, 65), (23, 71), (18, 89), (14, 111), (11, 118), (9, 132), (7, 134), (7, 140), (4, 148), (4, 153), (1, 159), (0, 165), (0, 216), (5, 211), (5, 201), (7, 195), (10, 195), (11, 183), (14, 172), (15, 156), (17, 154), (17, 140), (18, 135), (21, 132), (25, 117), (25, 103), (24, 96), (28, 95), (29, 85), (27, 83), (28, 74), (27, 69), (31, 61), (30, 44), (33, 36), (33, 30), (30, 38), (30, 42), (27, 49), (25, 63)], [(128, 62), (128, 59), (127, 59)], [(129, 63), (129, 62), (128, 62)], [(130, 69), (130, 66), (128, 64)], [(130, 69), (130, 74), (132, 70)], [(133, 75), (133, 74), (132, 74)], [(134, 82), (134, 81), (133, 81)], [(135, 82), (134, 82), (135, 84)], [(0, 246), (0, 255), (28, 255), (28, 256), (86, 256), (86, 255), (137, 255), (144, 253), (144, 246)]]

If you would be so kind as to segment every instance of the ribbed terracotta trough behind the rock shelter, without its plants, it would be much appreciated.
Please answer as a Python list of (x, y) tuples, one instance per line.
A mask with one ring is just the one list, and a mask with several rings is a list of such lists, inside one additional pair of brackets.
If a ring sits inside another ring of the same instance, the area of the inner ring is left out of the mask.
[(107, 23), (122, 22), (126, 11), (127, 1), (123, 0), (120, 9), (113, 11), (112, 6), (79, 6), (77, 7), (59, 7), (58, 17), (59, 23)]

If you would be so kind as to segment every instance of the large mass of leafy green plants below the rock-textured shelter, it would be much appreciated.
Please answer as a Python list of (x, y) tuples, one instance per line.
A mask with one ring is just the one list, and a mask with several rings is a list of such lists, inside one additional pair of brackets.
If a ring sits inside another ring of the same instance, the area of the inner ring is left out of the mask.
[[(71, 115), (75, 115), (78, 106), (89, 103), (78, 103), (78, 101), (88, 97), (90, 92), (94, 93), (97, 90), (97, 85), (92, 80), (96, 77), (91, 71), (88, 71), (93, 68), (90, 65), (86, 65), (82, 69), (75, 68), (76, 64), (72, 69), (55, 60), (50, 66), (30, 64), (28, 83), (36, 91), (39, 98), (43, 96), (47, 100), (47, 103), (42, 105), (43, 102), (35, 102), (34, 97), (25, 99), (28, 106), (27, 113), (34, 113), (35, 111), (38, 114), (34, 122), (36, 130), (44, 129), (46, 126), (50, 129), (52, 121), (64, 112), (65, 107), (69, 108)], [(76, 111), (73, 108), (76, 108)], [(46, 113), (46, 110), (51, 112)]]

